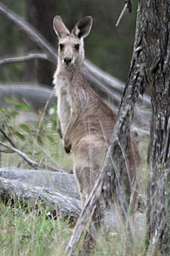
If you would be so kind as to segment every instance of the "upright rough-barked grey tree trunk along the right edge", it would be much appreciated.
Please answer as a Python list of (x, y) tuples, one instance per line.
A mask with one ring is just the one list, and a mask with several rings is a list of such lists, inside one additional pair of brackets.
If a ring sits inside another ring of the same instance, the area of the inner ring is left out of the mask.
[(147, 70), (152, 85), (152, 119), (148, 148), (147, 246), (170, 254), (170, 2), (139, 1), (147, 56)]

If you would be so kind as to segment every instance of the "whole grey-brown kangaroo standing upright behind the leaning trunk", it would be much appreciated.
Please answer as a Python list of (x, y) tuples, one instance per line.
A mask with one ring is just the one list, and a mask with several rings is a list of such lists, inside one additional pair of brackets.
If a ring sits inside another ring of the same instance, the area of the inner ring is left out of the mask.
[[(57, 70), (54, 73), (57, 96), (57, 130), (66, 153), (73, 153), (73, 168), (79, 183), (82, 207), (94, 186), (100, 164), (116, 123), (116, 113), (91, 89), (81, 67), (85, 58), (83, 39), (91, 30), (92, 18), (79, 20), (72, 32), (60, 16), (54, 17), (58, 36)], [(127, 197), (136, 179), (135, 161), (140, 157), (133, 139), (126, 151), (128, 170), (124, 173)]]

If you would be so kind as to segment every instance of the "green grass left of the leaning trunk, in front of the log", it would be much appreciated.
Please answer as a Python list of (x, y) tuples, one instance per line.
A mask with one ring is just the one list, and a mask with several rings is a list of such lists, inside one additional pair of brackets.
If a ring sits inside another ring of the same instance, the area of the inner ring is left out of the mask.
[(48, 218), (46, 212), (0, 203), (0, 255), (57, 255), (63, 254), (70, 237), (66, 221)]

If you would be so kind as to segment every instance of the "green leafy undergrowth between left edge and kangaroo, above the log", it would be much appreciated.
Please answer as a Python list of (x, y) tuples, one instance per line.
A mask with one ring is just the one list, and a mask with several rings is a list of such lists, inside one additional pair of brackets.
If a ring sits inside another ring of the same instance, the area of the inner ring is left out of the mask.
[[(14, 145), (38, 163), (47, 163), (57, 169), (72, 169), (72, 158), (64, 153), (61, 139), (57, 134), (56, 106), (54, 105), (42, 120), (41, 114), (36, 114), (37, 120), (31, 120), (33, 113), (28, 105), (20, 103), (17, 98), (13, 100), (5, 98), (5, 101), (8, 106), (0, 107), (1, 126)], [(2, 133), (0, 133), (0, 140), (8, 143), (8, 139)], [(12, 165), (30, 168), (22, 158), (19, 156), (16, 158), (16, 154), (2, 153), (1, 164), (3, 167)]]

